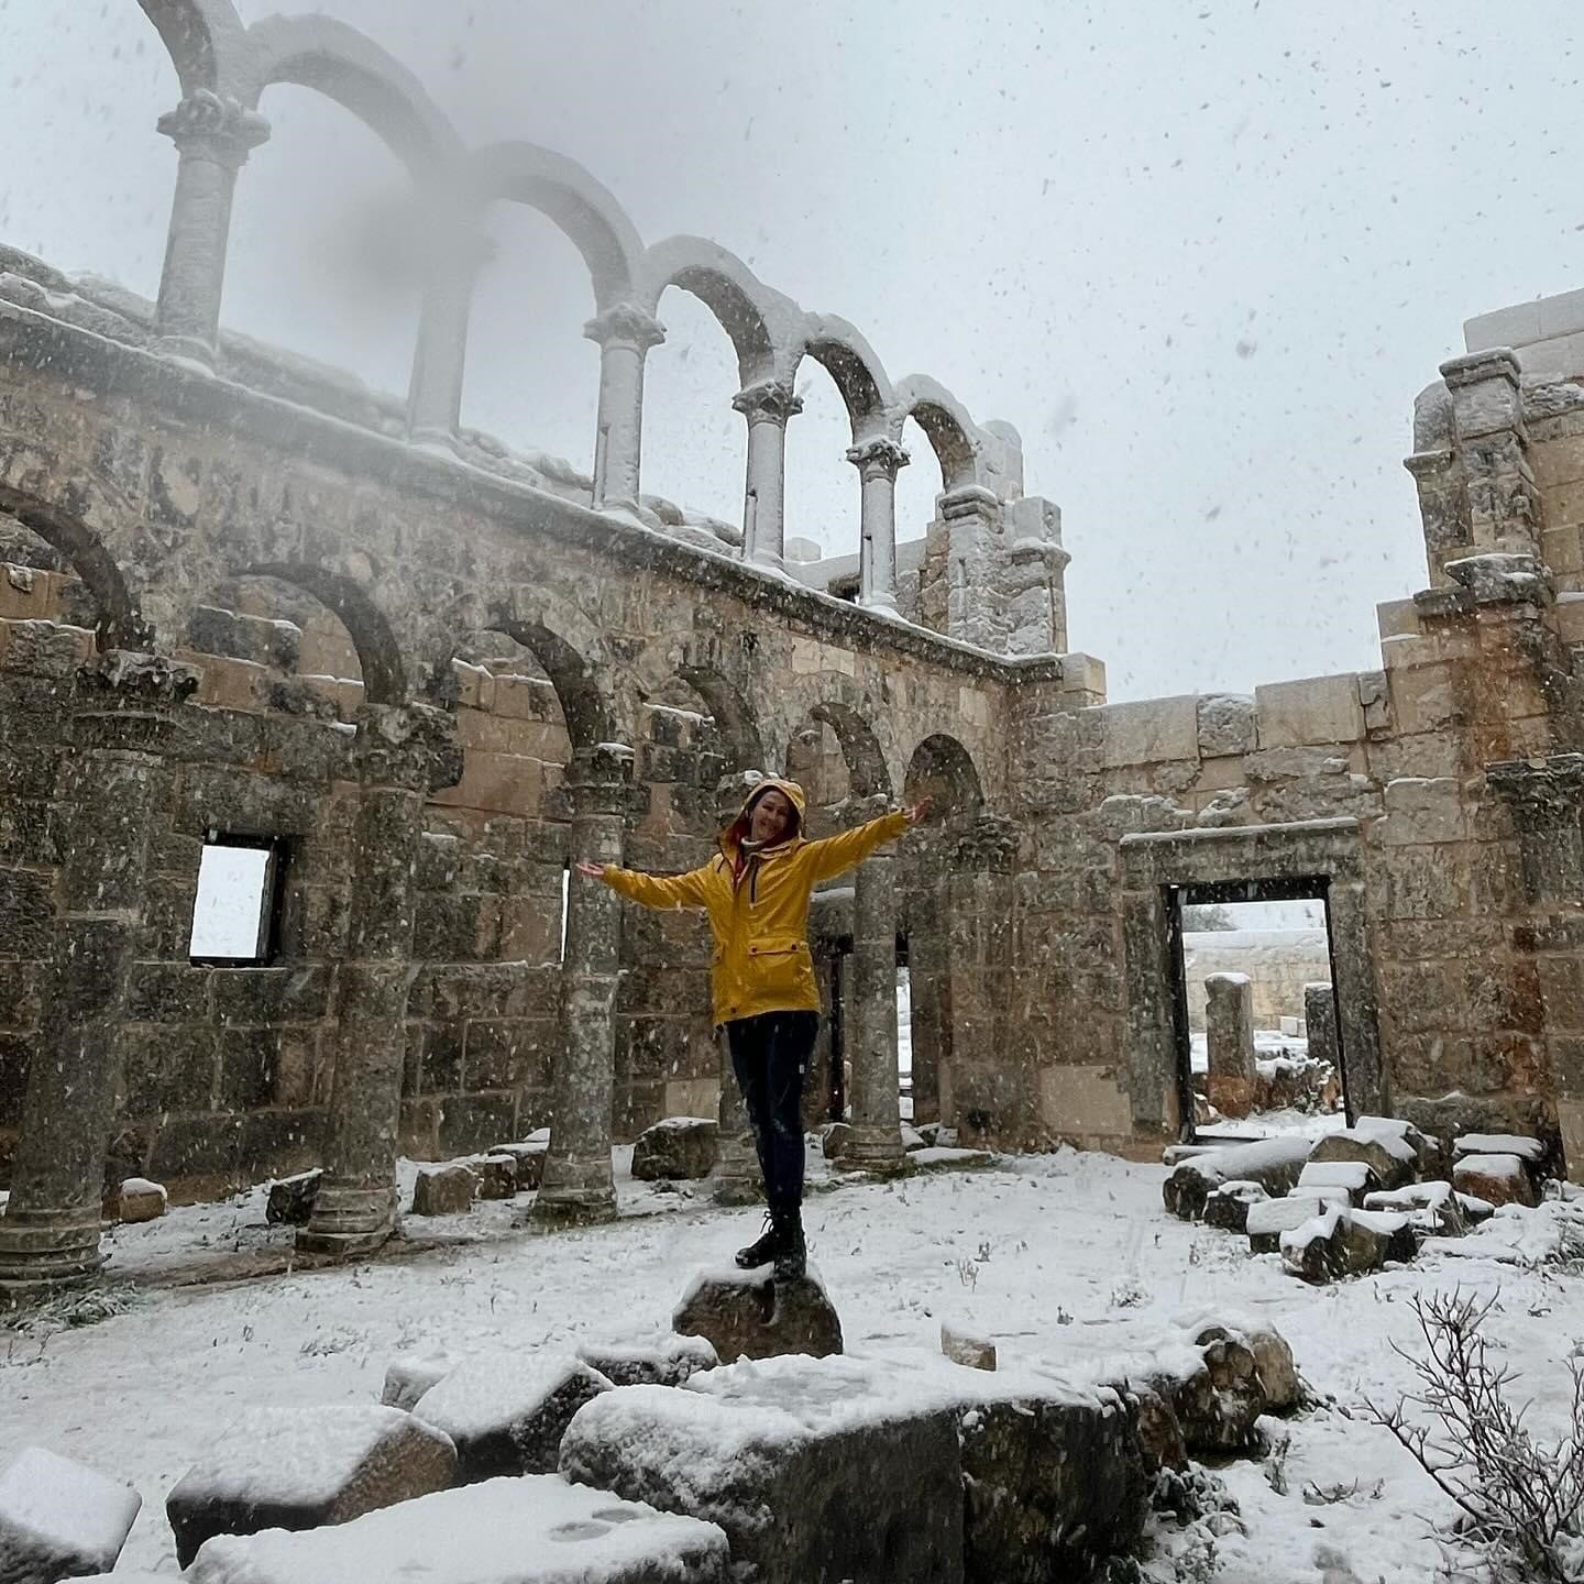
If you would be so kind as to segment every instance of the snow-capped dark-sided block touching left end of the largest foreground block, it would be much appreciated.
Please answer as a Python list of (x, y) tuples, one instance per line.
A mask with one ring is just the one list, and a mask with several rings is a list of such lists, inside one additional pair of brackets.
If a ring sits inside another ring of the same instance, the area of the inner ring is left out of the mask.
[(486, 1353), (431, 1386), (413, 1418), (456, 1443), (459, 1484), (556, 1467), (573, 1415), (610, 1381), (581, 1359), (551, 1353)]

